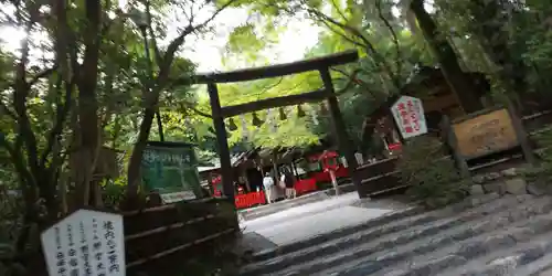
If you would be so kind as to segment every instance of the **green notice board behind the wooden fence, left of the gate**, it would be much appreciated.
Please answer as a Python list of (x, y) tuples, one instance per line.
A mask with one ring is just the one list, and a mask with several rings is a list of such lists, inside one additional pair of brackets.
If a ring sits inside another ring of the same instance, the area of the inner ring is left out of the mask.
[(166, 203), (201, 194), (198, 158), (192, 145), (150, 141), (141, 159), (142, 187), (157, 191)]

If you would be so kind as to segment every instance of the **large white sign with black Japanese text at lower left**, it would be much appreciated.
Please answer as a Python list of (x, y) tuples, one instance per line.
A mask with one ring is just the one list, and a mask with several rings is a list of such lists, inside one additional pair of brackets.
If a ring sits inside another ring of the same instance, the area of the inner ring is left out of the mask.
[(50, 276), (125, 276), (123, 215), (78, 210), (41, 235)]

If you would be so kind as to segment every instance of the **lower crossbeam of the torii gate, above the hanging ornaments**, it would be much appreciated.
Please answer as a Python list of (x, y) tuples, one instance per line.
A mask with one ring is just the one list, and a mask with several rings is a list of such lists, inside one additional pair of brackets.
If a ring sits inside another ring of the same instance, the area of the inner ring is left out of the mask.
[(266, 98), (256, 102), (245, 103), (241, 105), (232, 105), (222, 107), (222, 115), (227, 117), (233, 117), (240, 114), (253, 113), (257, 110), (274, 108), (274, 107), (283, 107), (283, 106), (291, 106), (298, 105), (302, 103), (309, 102), (320, 102), (331, 96), (331, 92), (327, 89), (318, 89), (314, 92)]

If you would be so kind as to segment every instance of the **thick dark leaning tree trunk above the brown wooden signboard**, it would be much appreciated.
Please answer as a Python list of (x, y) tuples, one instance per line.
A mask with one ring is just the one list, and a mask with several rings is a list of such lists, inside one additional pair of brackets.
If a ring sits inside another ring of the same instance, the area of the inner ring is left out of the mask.
[(424, 0), (413, 0), (411, 11), (416, 15), (420, 29), (427, 40), (435, 57), (439, 62), (440, 71), (445, 76), (450, 89), (456, 94), (458, 102), (465, 113), (474, 113), (482, 109), (478, 95), (479, 87), (474, 79), (460, 68), (458, 59), (446, 39), (440, 38), (435, 21), (424, 8)]

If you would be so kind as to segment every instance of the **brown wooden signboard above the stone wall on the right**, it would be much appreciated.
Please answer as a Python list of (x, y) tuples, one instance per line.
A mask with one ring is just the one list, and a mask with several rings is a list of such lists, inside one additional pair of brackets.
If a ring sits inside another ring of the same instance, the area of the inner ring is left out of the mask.
[(520, 145), (512, 118), (507, 108), (453, 124), (458, 153), (474, 159), (503, 151)]

